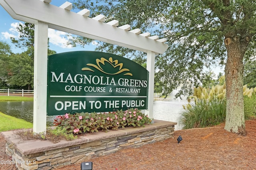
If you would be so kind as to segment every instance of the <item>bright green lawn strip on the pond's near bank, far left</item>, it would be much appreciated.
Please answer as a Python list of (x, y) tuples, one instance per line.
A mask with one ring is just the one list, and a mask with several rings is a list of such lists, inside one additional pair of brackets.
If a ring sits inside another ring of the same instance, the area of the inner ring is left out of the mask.
[(0, 112), (0, 132), (19, 128), (33, 128), (33, 124)]

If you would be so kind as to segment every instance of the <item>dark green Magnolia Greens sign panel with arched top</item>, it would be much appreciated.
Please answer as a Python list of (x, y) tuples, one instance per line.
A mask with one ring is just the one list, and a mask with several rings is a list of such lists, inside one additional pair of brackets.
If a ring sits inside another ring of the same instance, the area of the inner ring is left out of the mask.
[(48, 56), (47, 114), (147, 109), (148, 71), (130, 59), (96, 51)]

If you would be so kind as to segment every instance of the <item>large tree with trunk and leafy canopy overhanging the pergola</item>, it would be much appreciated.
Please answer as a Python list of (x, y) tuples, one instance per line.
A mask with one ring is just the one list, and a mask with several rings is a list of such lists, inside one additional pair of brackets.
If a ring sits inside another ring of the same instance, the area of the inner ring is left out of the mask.
[[(76, 0), (91, 16), (104, 14), (107, 21), (119, 20), (160, 38), (169, 48), (156, 57), (156, 81), (168, 94), (180, 84), (178, 95), (191, 93), (202, 82), (205, 68), (225, 64), (225, 129), (246, 135), (243, 102), (243, 59), (255, 55), (255, 0)], [(82, 45), (88, 39), (76, 38)], [(132, 50), (101, 43), (98, 50), (126, 54)], [(143, 53), (135, 55), (145, 56)]]

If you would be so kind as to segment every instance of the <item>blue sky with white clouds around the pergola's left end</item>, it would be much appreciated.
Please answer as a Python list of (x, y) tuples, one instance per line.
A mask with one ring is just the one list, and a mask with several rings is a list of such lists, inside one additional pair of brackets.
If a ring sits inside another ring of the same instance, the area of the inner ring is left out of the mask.
[[(55, 6), (61, 6), (67, 0), (52, 0), (50, 4)], [(71, 11), (78, 12), (74, 9)], [(0, 5), (0, 41), (8, 43), (12, 47), (12, 52), (21, 53), (24, 49), (19, 49), (15, 47), (10, 41), (10, 37), (18, 38), (18, 32), (16, 27), (19, 23), (24, 23), (20, 20), (14, 20), (6, 10)], [(91, 44), (83, 47), (71, 47), (67, 46), (66, 42), (68, 41), (66, 32), (61, 32), (58, 30), (48, 29), (48, 38), (50, 49), (56, 51), (57, 53), (67, 52), (67, 51), (94, 51), (96, 45)], [(74, 35), (73, 35), (74, 36)]]

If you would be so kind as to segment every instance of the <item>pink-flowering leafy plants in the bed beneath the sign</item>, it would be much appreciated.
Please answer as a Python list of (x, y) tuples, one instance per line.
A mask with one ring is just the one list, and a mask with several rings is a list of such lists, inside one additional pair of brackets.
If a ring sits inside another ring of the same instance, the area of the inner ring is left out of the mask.
[(151, 119), (138, 109), (106, 113), (66, 113), (54, 119), (54, 126), (65, 127), (68, 133), (81, 134), (105, 131), (125, 127), (136, 127), (150, 124)]

